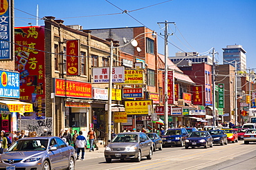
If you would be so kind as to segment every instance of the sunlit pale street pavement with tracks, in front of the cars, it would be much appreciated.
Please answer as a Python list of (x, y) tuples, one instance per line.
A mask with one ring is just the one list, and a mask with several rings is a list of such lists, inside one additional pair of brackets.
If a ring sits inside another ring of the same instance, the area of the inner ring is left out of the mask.
[[(85, 160), (78, 160), (75, 169), (256, 169), (256, 143), (244, 145), (243, 140), (212, 148), (185, 149), (165, 147), (154, 152), (152, 160), (140, 162), (112, 160), (106, 163), (104, 149), (86, 152)], [(91, 155), (90, 155), (91, 154)]]

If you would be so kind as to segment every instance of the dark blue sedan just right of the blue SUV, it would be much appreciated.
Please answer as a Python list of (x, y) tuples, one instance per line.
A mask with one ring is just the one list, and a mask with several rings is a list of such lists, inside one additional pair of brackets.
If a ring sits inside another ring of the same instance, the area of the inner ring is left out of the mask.
[(212, 136), (209, 134), (209, 131), (192, 131), (190, 136), (185, 140), (185, 149), (188, 147), (212, 147)]

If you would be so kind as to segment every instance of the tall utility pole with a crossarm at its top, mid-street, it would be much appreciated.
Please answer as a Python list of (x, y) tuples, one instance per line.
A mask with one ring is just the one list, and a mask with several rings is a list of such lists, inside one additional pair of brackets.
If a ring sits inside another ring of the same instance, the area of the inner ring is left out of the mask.
[[(168, 65), (167, 65), (167, 57), (168, 57), (168, 36), (170, 34), (168, 34), (168, 23), (173, 23), (175, 24), (175, 22), (158, 22), (158, 24), (160, 23), (164, 23), (165, 24), (165, 101), (164, 101), (164, 106), (165, 106), (165, 113), (164, 113), (164, 116), (165, 116), (165, 130), (168, 129), (168, 79), (167, 79), (167, 72), (168, 72)], [(174, 82), (173, 82), (173, 85), (174, 85)]]

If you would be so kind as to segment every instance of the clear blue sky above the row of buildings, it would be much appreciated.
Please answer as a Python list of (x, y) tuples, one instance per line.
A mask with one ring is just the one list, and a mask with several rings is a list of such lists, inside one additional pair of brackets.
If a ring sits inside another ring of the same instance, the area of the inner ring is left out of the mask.
[[(82, 25), (83, 29), (145, 25), (158, 34), (164, 34), (163, 29), (161, 30), (164, 25), (157, 23), (170, 21), (175, 22), (176, 27), (170, 25), (168, 30), (170, 33), (174, 32), (168, 38), (169, 56), (175, 56), (179, 51), (205, 54), (214, 47), (219, 52), (217, 61), (223, 63), (221, 48), (237, 44), (243, 45), (247, 52), (247, 67), (256, 68), (255, 0), (165, 1), (167, 0), (16, 0), (15, 26), (28, 23), (35, 25), (37, 4), (39, 18), (53, 16), (64, 20), (65, 25)], [(157, 3), (161, 4), (153, 6)], [(123, 10), (130, 11), (128, 14), (131, 17), (125, 13), (118, 14)], [(44, 21), (39, 20), (39, 25), (44, 25)], [(158, 37), (158, 52), (161, 54), (164, 54), (163, 41)]]

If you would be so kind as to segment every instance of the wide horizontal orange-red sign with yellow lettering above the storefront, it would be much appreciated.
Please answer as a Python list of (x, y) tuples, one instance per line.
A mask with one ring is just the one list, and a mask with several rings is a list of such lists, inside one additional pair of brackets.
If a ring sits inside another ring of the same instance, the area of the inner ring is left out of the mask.
[(91, 83), (55, 78), (55, 96), (91, 98)]

